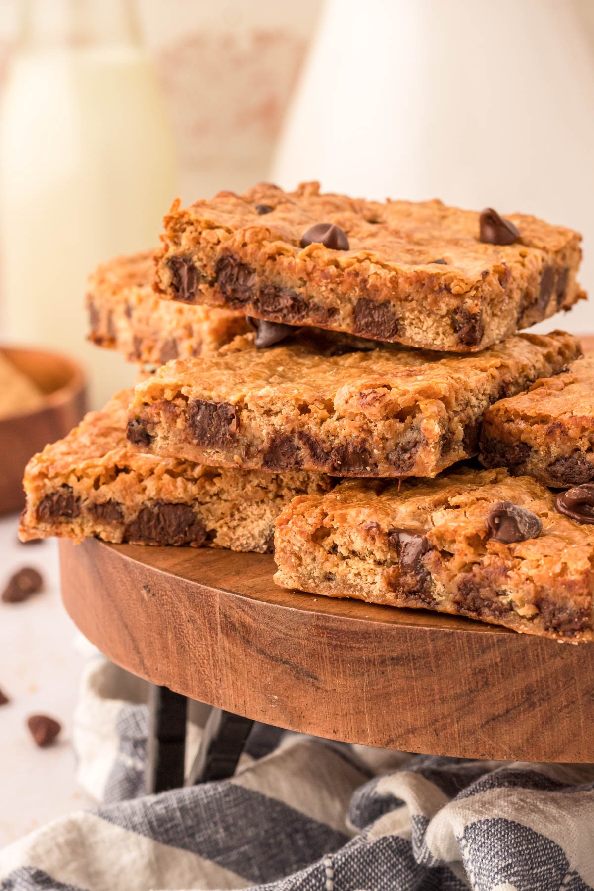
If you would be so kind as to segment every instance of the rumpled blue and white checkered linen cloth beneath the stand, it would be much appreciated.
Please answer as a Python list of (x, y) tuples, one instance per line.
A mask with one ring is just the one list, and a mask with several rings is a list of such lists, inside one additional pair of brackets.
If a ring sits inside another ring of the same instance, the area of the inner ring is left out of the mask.
[(5, 848), (4, 891), (594, 887), (594, 765), (409, 756), (256, 725), (231, 780), (147, 797), (145, 698), (94, 660), (75, 746), (103, 804)]

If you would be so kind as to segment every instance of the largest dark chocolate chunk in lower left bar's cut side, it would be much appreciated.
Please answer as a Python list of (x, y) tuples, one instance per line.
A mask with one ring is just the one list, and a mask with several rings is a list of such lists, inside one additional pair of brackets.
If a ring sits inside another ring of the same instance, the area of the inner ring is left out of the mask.
[(124, 541), (136, 544), (199, 545), (206, 536), (204, 523), (189, 504), (162, 501), (143, 507), (124, 530)]

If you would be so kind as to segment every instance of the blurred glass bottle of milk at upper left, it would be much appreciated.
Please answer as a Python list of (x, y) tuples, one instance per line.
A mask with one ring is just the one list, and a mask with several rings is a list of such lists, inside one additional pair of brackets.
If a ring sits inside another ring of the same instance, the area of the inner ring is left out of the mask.
[(159, 243), (171, 128), (126, 0), (28, 0), (0, 131), (4, 339), (77, 356), (94, 405), (134, 377), (85, 341), (85, 278)]

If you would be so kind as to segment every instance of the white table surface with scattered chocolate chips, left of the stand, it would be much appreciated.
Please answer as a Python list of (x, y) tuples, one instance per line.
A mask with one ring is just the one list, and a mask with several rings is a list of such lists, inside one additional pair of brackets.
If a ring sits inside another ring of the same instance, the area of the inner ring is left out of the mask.
[[(24, 603), (0, 601), (0, 847), (64, 813), (93, 806), (77, 788), (70, 745), (72, 715), (85, 657), (77, 630), (61, 605), (55, 540), (20, 544), (18, 517), (0, 519), (0, 590), (12, 572), (37, 568), (43, 593)], [(58, 744), (37, 748), (28, 715), (45, 713), (62, 724)]]

